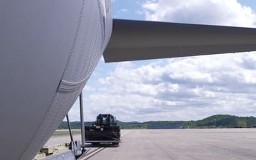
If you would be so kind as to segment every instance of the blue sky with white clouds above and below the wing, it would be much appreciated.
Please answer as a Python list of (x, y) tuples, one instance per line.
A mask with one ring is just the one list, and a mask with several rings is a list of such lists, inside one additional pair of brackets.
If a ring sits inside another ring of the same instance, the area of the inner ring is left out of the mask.
[[(113, 18), (256, 27), (252, 0), (112, 0)], [(122, 122), (256, 117), (256, 52), (104, 63), (83, 93), (85, 121), (110, 113)], [(80, 120), (79, 102), (68, 113)]]

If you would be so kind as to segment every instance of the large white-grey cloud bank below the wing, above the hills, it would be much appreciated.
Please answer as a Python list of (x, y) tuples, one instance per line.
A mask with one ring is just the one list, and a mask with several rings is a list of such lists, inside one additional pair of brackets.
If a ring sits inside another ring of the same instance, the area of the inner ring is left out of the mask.
[(95, 113), (104, 108), (122, 121), (256, 115), (256, 72), (241, 67), (247, 61), (255, 64), (256, 54), (171, 58), (140, 67), (118, 63), (88, 100)]

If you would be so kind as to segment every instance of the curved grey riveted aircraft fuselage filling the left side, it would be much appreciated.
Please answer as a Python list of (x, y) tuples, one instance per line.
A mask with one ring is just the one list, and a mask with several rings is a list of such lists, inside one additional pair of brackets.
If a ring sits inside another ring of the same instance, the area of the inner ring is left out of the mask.
[(95, 69), (110, 0), (0, 2), (0, 159), (33, 159)]

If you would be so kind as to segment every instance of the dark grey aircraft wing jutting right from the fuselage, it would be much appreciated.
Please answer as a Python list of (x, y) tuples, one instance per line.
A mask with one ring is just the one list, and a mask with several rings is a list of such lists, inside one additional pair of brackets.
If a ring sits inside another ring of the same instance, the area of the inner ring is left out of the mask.
[(105, 62), (256, 50), (256, 28), (113, 20)]

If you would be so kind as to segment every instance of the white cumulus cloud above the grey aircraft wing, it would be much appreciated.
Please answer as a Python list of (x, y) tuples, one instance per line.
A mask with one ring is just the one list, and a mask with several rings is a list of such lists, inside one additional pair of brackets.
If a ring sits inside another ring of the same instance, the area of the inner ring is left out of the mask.
[(146, 20), (180, 23), (255, 26), (256, 16), (236, 0), (148, 0), (142, 4)]

